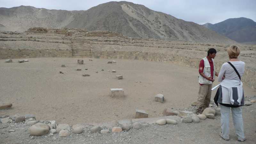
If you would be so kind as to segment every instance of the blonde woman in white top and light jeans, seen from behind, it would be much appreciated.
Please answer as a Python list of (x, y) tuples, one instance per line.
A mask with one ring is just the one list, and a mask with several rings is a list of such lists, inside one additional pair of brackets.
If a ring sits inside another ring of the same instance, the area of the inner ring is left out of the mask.
[(229, 113), (231, 108), (237, 140), (242, 142), (246, 140), (244, 136), (242, 109), (240, 107), (244, 105), (243, 83), (241, 81), (241, 77), (244, 74), (244, 62), (237, 58), (240, 54), (240, 48), (238, 46), (231, 46), (227, 51), (229, 62), (225, 62), (221, 66), (218, 76), (220, 87), (217, 103), (220, 103), (222, 129), (220, 136), (224, 140), (229, 140)]

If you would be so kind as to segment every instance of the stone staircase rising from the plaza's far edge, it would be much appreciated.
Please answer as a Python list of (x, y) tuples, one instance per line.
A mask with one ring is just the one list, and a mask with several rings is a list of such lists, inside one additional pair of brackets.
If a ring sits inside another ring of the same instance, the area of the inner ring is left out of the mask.
[(83, 43), (83, 41), (72, 41), (72, 44), (70, 46), (72, 48), (72, 57), (92, 57), (92, 49), (90, 44)]

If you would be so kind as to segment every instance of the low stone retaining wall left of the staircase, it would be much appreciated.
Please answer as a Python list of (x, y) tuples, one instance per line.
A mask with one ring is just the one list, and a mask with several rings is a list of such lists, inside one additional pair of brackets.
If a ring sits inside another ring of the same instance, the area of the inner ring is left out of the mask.
[(72, 57), (71, 49), (3, 49), (0, 59), (36, 58), (36, 57)]

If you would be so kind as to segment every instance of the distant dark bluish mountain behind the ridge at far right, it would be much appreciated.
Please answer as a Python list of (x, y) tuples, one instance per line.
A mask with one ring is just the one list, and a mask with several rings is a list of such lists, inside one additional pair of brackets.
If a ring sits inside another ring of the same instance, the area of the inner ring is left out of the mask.
[(227, 19), (203, 26), (240, 43), (256, 41), (256, 22), (248, 18)]

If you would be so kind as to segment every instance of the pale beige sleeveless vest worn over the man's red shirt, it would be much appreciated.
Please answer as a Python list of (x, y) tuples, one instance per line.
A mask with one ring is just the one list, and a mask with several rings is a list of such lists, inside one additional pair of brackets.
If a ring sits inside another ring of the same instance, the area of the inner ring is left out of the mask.
[[(203, 60), (204, 60), (204, 75), (206, 77), (210, 77), (211, 76), (210, 63), (206, 57)], [(212, 62), (213, 62), (213, 79), (215, 79), (215, 66), (214, 66), (213, 59), (212, 59)], [(199, 84), (212, 84), (212, 81), (208, 81), (207, 79), (205, 79), (203, 76), (199, 74)]]

